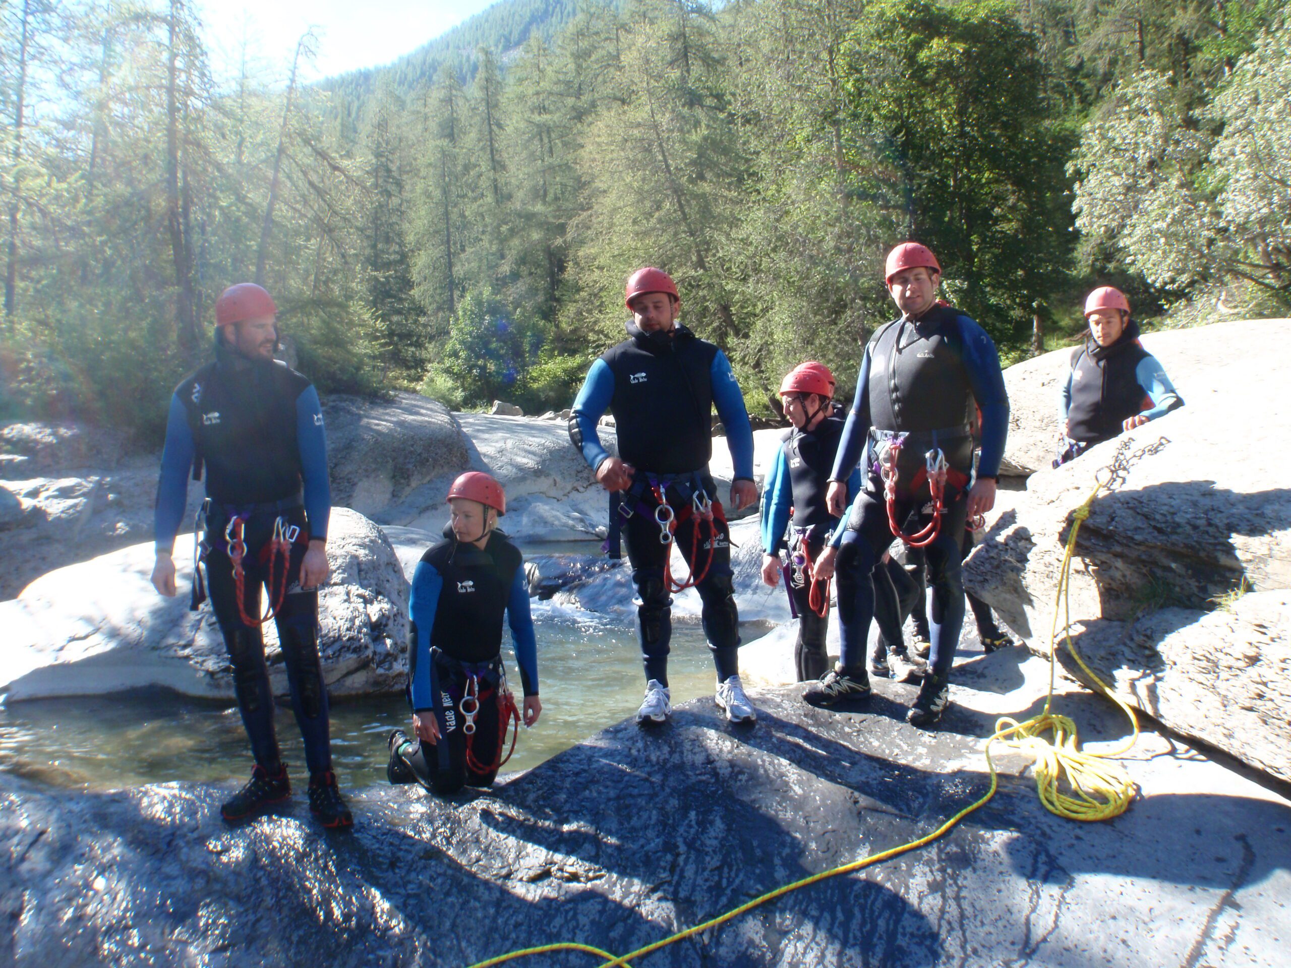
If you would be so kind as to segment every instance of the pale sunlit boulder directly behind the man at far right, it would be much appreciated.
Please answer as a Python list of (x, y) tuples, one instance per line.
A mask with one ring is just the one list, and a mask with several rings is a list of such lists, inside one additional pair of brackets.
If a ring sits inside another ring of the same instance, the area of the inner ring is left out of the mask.
[[(1291, 320), (1256, 319), (1215, 323), (1190, 329), (1146, 333), (1141, 342), (1170, 374), (1188, 407), (1197, 392), (1214, 386), (1216, 368), (1237, 363), (1252, 347), (1274, 347), (1285, 339)], [(1057, 439), (1059, 386), (1072, 368), (1072, 347), (1035, 356), (1004, 370), (1008, 387), (1008, 441), (1001, 474), (1028, 476), (1052, 466)]]

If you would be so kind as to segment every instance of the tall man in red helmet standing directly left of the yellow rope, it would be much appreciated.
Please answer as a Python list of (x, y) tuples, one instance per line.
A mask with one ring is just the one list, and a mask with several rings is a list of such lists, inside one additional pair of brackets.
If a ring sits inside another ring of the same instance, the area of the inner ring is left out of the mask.
[[(804, 698), (829, 706), (870, 692), (865, 645), (874, 614), (870, 576), (883, 551), (900, 537), (927, 551), (933, 587), (930, 671), (906, 719), (936, 723), (949, 705), (950, 666), (964, 618), (961, 576), (964, 521), (995, 503), (995, 478), (1008, 432), (1008, 395), (999, 355), (985, 330), (939, 302), (941, 266), (932, 250), (902, 243), (886, 261), (888, 293), (901, 315), (880, 327), (865, 347), (826, 503), (847, 510), (844, 481), (866, 457), (866, 483), (847, 527), (816, 560), (816, 574), (838, 569), (842, 654), (838, 666)], [(981, 461), (972, 474), (973, 405), (981, 410)], [(902, 528), (918, 530), (908, 534)]]

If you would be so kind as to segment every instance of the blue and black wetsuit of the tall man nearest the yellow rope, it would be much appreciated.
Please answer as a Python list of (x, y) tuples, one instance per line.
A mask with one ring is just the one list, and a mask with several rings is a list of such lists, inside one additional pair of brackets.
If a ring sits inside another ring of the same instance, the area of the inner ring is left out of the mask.
[(834, 461), (831, 480), (846, 480), (865, 456), (866, 483), (852, 502), (847, 524), (834, 533), (838, 610), (842, 620), (840, 663), (860, 670), (874, 616), (870, 574), (892, 543), (879, 462), (888, 439), (906, 434), (897, 450), (896, 520), (931, 520), (927, 483), (910, 484), (924, 466), (924, 453), (940, 449), (957, 471), (959, 487), (946, 484), (945, 512), (936, 541), (926, 549), (932, 600), (932, 671), (946, 675), (954, 661), (964, 617), (961, 577), (967, 481), (972, 474), (972, 408), (981, 410), (979, 474), (995, 478), (1008, 432), (1008, 395), (999, 355), (986, 332), (958, 310), (941, 303), (919, 320), (899, 319), (879, 328), (865, 347), (856, 379), (856, 400)]

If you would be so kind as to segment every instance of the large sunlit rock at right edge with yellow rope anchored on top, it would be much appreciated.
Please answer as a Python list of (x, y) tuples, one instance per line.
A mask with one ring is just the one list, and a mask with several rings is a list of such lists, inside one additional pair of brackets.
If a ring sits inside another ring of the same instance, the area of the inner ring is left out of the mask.
[[(1259, 352), (1248, 341), (1245, 352), (1230, 346), (1252, 328)], [(1279, 383), (1291, 368), (1291, 321), (1223, 323), (1186, 336), (1198, 354), (1183, 370), (1186, 405), (1032, 475), (970, 556), (966, 585), (1029, 645), (1047, 649), (1072, 514), (1124, 443), (1133, 456), (1123, 483), (1093, 502), (1078, 534), (1069, 583), (1070, 617), (1084, 630), (1078, 648), (1166, 725), (1291, 777), (1291, 746), (1281, 738), (1291, 696), (1269, 687), (1286, 681), (1286, 640), (1261, 629), (1285, 616), (1277, 601), (1291, 589), (1282, 459), (1291, 453), (1291, 404)], [(1212, 350), (1205, 368), (1202, 347)], [(1176, 347), (1174, 359), (1185, 354)], [(1272, 598), (1216, 612), (1242, 587)], [(1212, 715), (1199, 712), (1201, 694), (1214, 696)]]

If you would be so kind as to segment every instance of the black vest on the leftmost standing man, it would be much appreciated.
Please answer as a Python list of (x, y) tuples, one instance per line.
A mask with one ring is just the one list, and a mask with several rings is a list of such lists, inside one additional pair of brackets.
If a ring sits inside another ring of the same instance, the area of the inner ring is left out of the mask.
[(194, 476), (204, 463), (208, 497), (258, 505), (300, 494), (296, 400), (309, 386), (276, 360), (235, 368), (223, 359), (176, 387), (196, 447)]

